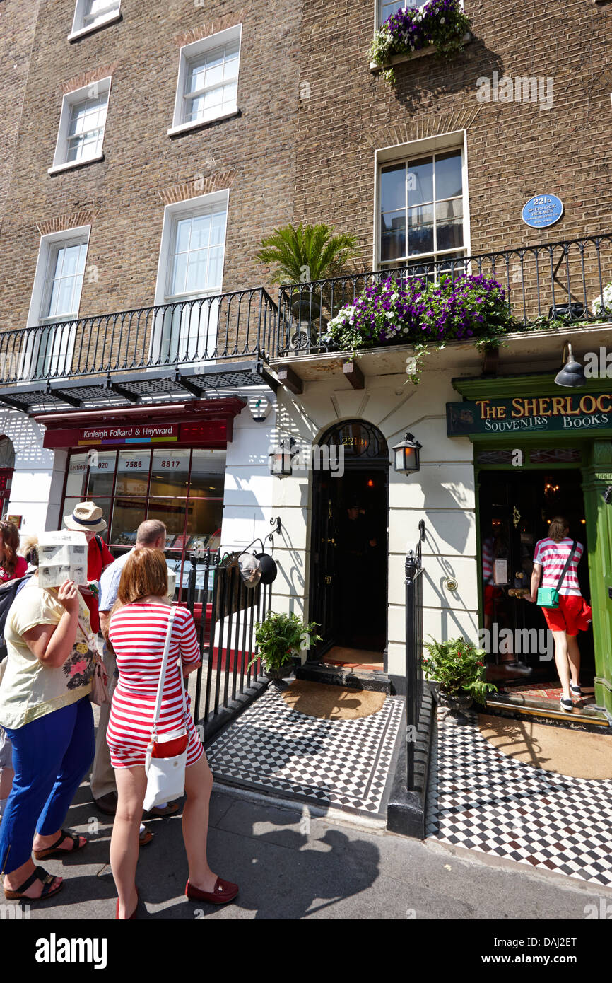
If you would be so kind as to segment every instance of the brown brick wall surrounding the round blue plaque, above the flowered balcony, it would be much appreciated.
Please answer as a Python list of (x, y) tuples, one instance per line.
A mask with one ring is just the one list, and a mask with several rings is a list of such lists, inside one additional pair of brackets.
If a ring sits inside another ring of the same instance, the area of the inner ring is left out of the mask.
[[(368, 68), (374, 10), (341, 0), (323, 18), (320, 4), (303, 4), (297, 219), (354, 233), (371, 267), (374, 151), (466, 130), (473, 254), (609, 231), (612, 6), (466, 0), (464, 53), (404, 62), (396, 87)], [(530, 91), (529, 101), (478, 101), (478, 80), (494, 72), (552, 80), (550, 107)], [(563, 222), (529, 230), (521, 209), (544, 188), (564, 200)]]

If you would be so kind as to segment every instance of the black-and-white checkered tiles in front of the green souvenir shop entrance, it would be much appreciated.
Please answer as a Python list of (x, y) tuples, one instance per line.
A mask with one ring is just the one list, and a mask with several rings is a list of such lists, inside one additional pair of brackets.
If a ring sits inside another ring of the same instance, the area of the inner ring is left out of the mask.
[(427, 837), (612, 886), (612, 781), (514, 761), (468, 717), (438, 724)]

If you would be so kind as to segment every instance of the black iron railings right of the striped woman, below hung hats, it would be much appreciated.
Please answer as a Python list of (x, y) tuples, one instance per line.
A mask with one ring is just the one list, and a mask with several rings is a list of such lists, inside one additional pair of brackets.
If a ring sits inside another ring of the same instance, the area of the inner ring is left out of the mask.
[(187, 607), (195, 616), (202, 665), (197, 670), (193, 714), (208, 740), (263, 689), (254, 631), (271, 605), (272, 585), (244, 583), (236, 554), (225, 560), (206, 550), (191, 559)]

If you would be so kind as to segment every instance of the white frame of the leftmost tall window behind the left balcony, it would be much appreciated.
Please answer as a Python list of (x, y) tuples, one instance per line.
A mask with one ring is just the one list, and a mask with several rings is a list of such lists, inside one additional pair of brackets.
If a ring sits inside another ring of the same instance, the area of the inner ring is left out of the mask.
[[(51, 232), (49, 235), (40, 237), (40, 245), (38, 247), (38, 258), (36, 260), (36, 272), (34, 273), (34, 282), (32, 285), (31, 298), (29, 301), (28, 310), (28, 320), (27, 327), (44, 327), (46, 324), (51, 325), (54, 323), (63, 323), (66, 325), (70, 318), (69, 316), (64, 318), (63, 321), (50, 320), (46, 317), (41, 317), (42, 305), (45, 301), (45, 294), (47, 288), (47, 278), (49, 272), (49, 263), (51, 257), (55, 252), (55, 247), (57, 246), (68, 246), (71, 243), (82, 242), (86, 243), (87, 250), (89, 248), (89, 235), (91, 232), (90, 225), (80, 225), (75, 229), (64, 229), (61, 232)], [(87, 268), (87, 260), (85, 256), (85, 266), (84, 270)], [(83, 290), (83, 285), (82, 285)], [(64, 326), (62, 331), (62, 337), (60, 339), (60, 346), (65, 345), (65, 352), (59, 352), (59, 354), (52, 354), (50, 356), (53, 359), (62, 359), (63, 363), (69, 364), (72, 359), (72, 353), (75, 344), (76, 335), (76, 322), (79, 318), (79, 310), (81, 308), (81, 293), (79, 294), (79, 304), (77, 311), (74, 313), (74, 322), (70, 327), (66, 328)], [(24, 348), (21, 353), (21, 365), (19, 370), (20, 378), (28, 378), (34, 374), (38, 367), (38, 355), (40, 351), (40, 341), (43, 336), (42, 331), (30, 332), (26, 334), (24, 339)], [(30, 340), (32, 339), (32, 340)], [(55, 347), (54, 343), (51, 345), (51, 350)]]

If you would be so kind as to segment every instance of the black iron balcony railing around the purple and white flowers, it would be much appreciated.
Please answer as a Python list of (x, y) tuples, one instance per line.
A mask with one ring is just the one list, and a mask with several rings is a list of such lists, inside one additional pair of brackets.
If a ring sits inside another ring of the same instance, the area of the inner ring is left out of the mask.
[(337, 350), (329, 322), (356, 303), (366, 288), (393, 276), (403, 285), (439, 283), (477, 274), (503, 287), (512, 329), (548, 322), (612, 321), (612, 296), (597, 299), (612, 281), (612, 234), (338, 276), (283, 287), (279, 296), (276, 357)]

